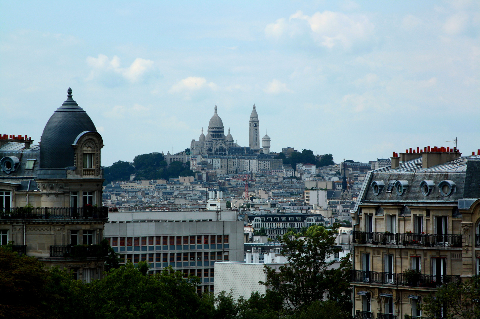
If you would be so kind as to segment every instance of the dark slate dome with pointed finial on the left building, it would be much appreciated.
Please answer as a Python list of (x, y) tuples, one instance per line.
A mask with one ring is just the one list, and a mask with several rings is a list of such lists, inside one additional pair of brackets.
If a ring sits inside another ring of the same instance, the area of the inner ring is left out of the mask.
[(72, 89), (67, 100), (45, 125), (40, 139), (40, 168), (66, 168), (74, 164), (72, 144), (84, 131), (96, 131), (87, 113), (72, 99)]

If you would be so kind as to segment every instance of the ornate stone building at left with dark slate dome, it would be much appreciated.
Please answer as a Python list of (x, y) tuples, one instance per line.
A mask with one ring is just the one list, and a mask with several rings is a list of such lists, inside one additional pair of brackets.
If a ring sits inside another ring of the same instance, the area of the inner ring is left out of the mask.
[(100, 245), (102, 136), (86, 112), (67, 100), (45, 125), (40, 145), (22, 135), (0, 136), (0, 245), (60, 266), (89, 282), (103, 271)]

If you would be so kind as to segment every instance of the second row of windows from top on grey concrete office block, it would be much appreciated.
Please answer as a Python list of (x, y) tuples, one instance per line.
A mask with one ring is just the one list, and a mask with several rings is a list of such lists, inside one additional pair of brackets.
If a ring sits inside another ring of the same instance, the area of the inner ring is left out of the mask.
[[(148, 261), (154, 268), (173, 267), (190, 267), (190, 266), (208, 266), (215, 261), (228, 261), (228, 251), (204, 251), (190, 253), (150, 253), (150, 254), (126, 254), (124, 262), (132, 262), (134, 264), (139, 261)], [(209, 263), (211, 262), (211, 263)]]

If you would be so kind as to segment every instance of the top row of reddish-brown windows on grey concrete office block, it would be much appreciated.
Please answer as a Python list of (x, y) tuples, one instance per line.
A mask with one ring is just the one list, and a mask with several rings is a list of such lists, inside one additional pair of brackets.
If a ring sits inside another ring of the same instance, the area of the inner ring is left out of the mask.
[(229, 235), (107, 237), (115, 251), (229, 248)]

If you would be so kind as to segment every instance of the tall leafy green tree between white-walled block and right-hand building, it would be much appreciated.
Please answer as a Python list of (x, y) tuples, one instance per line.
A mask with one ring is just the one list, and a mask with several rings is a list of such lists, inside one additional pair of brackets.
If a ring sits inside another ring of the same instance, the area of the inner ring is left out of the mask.
[(339, 251), (334, 236), (338, 227), (334, 224), (327, 230), (320, 225), (310, 226), (304, 234), (305, 239), (289, 239), (284, 234), (280, 237), (284, 247), (281, 254), (287, 258), (287, 263), (279, 267), (279, 272), (264, 266), (267, 279), (261, 283), (282, 295), (294, 313), (322, 300), (330, 287), (327, 270), (333, 261), (327, 259)]

